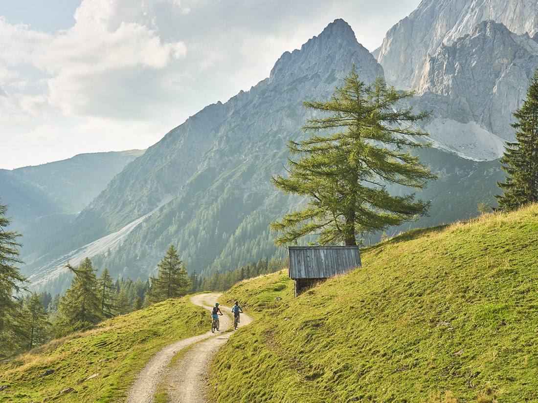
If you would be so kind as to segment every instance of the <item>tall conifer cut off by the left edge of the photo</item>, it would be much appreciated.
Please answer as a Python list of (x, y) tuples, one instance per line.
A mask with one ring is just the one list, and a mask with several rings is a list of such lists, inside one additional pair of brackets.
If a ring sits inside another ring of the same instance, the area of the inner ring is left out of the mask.
[[(1, 201), (1, 200), (0, 200)], [(26, 290), (21, 284), (26, 277), (20, 274), (17, 242), (19, 233), (7, 231), (11, 220), (5, 217), (8, 206), (0, 204), (0, 356), (7, 355), (18, 347), (24, 336), (22, 315), (16, 294)]]

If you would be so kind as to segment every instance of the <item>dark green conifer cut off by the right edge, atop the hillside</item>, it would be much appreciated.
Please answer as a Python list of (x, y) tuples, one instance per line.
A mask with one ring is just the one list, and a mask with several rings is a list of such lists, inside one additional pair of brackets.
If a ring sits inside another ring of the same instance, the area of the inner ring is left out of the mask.
[(538, 202), (538, 69), (530, 80), (527, 99), (513, 113), (517, 119), (515, 142), (506, 142), (499, 162), (508, 176), (497, 185), (504, 191), (495, 195), (501, 210), (513, 210), (527, 203)]

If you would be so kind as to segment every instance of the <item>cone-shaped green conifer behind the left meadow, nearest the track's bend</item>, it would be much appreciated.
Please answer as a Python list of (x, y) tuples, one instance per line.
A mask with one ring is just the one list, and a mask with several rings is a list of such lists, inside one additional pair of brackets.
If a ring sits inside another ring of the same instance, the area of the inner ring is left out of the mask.
[(173, 245), (168, 248), (157, 267), (159, 275), (151, 277), (151, 287), (148, 291), (152, 303), (187, 294), (190, 287), (187, 270), (185, 263), (179, 260), (178, 251)]

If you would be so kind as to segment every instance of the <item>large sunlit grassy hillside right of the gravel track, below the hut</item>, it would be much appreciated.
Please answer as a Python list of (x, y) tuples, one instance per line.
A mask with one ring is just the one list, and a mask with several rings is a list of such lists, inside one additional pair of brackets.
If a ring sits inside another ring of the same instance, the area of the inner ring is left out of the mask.
[(538, 401), (537, 252), (535, 205), (402, 234), (296, 299), (282, 273), (240, 283), (221, 300), (257, 320), (218, 402)]

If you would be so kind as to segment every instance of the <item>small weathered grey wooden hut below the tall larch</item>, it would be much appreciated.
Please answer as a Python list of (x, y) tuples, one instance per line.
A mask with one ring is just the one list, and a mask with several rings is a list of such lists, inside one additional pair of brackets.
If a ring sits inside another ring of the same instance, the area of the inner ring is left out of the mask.
[(358, 246), (289, 246), (288, 260), (295, 297), (319, 280), (361, 267)]

